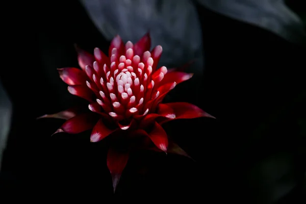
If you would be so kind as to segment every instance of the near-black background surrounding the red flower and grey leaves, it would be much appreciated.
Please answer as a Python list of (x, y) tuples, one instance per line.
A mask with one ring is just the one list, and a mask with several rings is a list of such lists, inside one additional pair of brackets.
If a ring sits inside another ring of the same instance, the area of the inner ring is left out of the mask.
[[(301, 8), (296, 1), (289, 5)], [(0, 76), (13, 104), (13, 116), (2, 162), (1, 194), (29, 201), (84, 198), (106, 203), (109, 199), (305, 200), (302, 73), (306, 55), (302, 43), (196, 4), (205, 53), (205, 71), (196, 83), (200, 97), (175, 93), (169, 100), (195, 103), (217, 120), (165, 125), (197, 162), (143, 152), (129, 161), (114, 196), (103, 143), (89, 144), (88, 133), (51, 138), (63, 121), (35, 119), (84, 103), (67, 92), (56, 71), (78, 66), (73, 43), (88, 51), (100, 47), (106, 52), (110, 42), (77, 1), (7, 7), (11, 12), (3, 31), (5, 64)], [(178, 88), (184, 94), (191, 86), (194, 84)], [(186, 128), (174, 128), (182, 125)], [(140, 169), (142, 166), (148, 170)]]

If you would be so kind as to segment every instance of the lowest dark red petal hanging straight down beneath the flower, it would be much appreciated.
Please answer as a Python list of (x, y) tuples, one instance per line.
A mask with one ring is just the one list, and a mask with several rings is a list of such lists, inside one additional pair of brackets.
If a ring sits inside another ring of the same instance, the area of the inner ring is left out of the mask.
[(109, 148), (107, 154), (107, 167), (109, 168), (113, 178), (114, 192), (119, 183), (123, 169), (129, 160), (128, 151), (118, 151), (112, 147)]

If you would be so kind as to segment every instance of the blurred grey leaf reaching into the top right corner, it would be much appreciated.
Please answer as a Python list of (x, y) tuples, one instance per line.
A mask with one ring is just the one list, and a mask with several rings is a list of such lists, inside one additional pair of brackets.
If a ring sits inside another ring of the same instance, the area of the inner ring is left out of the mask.
[(206, 8), (267, 29), (289, 41), (305, 42), (302, 20), (283, 0), (196, 0)]

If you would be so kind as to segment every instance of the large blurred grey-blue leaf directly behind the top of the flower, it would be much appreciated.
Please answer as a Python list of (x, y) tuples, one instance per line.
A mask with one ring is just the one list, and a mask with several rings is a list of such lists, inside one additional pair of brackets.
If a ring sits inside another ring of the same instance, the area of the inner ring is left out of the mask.
[(160, 64), (176, 67), (197, 59), (192, 72), (202, 72), (200, 22), (188, 0), (81, 1), (97, 28), (108, 40), (119, 34), (137, 42), (147, 31), (152, 46), (162, 45)]

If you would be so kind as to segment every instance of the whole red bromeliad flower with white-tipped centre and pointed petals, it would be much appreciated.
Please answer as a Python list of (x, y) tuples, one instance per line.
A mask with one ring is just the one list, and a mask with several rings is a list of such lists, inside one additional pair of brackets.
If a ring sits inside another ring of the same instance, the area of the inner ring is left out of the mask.
[[(67, 119), (56, 133), (78, 134), (92, 129), (91, 142), (99, 142), (108, 136), (116, 138), (107, 157), (114, 189), (131, 150), (151, 148), (150, 144), (154, 144), (157, 150), (186, 155), (179, 146), (168, 144), (167, 134), (161, 126), (163, 123), (174, 119), (213, 117), (189, 103), (161, 103), (170, 90), (190, 79), (192, 74), (167, 70), (165, 66), (157, 69), (162, 47), (158, 45), (150, 52), (149, 48), (149, 34), (136, 44), (128, 41), (125, 45), (116, 36), (109, 47), (110, 57), (99, 48), (94, 49), (94, 55), (77, 48), (82, 69), (58, 70), (61, 79), (69, 85), (68, 91), (90, 102), (91, 112), (78, 114), (77, 110), (69, 109), (43, 116)], [(135, 138), (141, 138), (142, 142), (136, 142)]]

